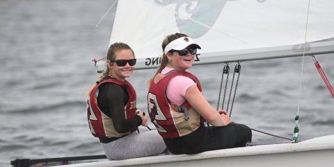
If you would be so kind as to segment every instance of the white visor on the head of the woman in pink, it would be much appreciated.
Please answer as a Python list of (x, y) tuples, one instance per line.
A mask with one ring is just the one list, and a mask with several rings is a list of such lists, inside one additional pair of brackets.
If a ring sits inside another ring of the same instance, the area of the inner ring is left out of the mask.
[(191, 37), (179, 37), (175, 40), (173, 40), (172, 42), (170, 42), (166, 48), (164, 49), (164, 53), (168, 53), (168, 51), (170, 50), (176, 50), (176, 51), (180, 51), (182, 49), (185, 49), (186, 47), (188, 47), (189, 45), (193, 45), (196, 48), (200, 49), (200, 46), (198, 44), (196, 44), (195, 42), (193, 42), (193, 39), (191, 39)]

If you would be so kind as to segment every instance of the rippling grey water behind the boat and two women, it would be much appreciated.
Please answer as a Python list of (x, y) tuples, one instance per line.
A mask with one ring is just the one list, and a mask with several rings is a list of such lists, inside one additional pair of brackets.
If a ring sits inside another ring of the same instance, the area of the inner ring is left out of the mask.
[[(0, 166), (15, 158), (103, 154), (88, 130), (85, 91), (98, 77), (90, 60), (106, 54), (113, 1), (0, 1)], [(317, 57), (334, 82), (333, 55)], [(232, 120), (292, 137), (301, 58), (241, 64)], [(214, 107), (223, 64), (193, 67)], [(129, 78), (146, 108), (147, 82), (154, 70)], [(305, 58), (300, 139), (334, 134), (333, 98), (311, 58)], [(152, 125), (151, 125), (152, 128)], [(143, 129), (144, 130), (144, 129)], [(254, 141), (282, 141), (254, 132)]]

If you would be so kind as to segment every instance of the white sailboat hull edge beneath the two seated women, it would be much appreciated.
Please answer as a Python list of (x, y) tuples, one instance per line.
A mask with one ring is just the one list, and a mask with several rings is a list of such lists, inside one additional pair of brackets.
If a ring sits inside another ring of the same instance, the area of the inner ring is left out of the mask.
[(334, 166), (334, 135), (301, 143), (281, 143), (202, 152), (196, 155), (159, 155), (122, 161), (99, 161), (67, 167), (97, 166)]

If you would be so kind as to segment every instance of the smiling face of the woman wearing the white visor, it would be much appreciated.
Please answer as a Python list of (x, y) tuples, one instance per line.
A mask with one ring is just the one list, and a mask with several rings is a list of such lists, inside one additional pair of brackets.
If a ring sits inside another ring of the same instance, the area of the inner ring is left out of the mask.
[(186, 71), (193, 65), (193, 60), (195, 55), (191, 55), (191, 53), (186, 53), (186, 55), (181, 56), (177, 52), (167, 53), (167, 58), (169, 60), (168, 67), (172, 67), (173, 69), (180, 69), (182, 71)]

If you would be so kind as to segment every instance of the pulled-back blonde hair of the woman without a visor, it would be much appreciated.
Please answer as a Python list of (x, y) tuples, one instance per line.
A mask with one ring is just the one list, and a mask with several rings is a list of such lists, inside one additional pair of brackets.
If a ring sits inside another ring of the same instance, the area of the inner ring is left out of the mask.
[[(115, 60), (116, 58), (116, 51), (122, 51), (122, 50), (131, 50), (132, 54), (134, 55), (134, 50), (131, 49), (131, 47), (128, 44), (122, 43), (122, 42), (116, 42), (114, 44), (111, 44), (108, 49), (108, 53), (106, 53), (106, 61), (110, 60), (111, 62)], [(109, 67), (108, 63), (106, 63), (106, 69), (103, 71), (102, 75), (100, 76), (100, 81), (104, 80), (107, 76), (109, 76)]]

